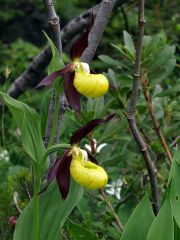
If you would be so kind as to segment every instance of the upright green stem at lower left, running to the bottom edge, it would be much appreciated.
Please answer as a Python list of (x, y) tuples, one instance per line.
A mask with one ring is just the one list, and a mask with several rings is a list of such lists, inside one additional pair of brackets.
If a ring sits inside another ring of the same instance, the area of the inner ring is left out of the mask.
[(40, 178), (35, 176), (33, 200), (33, 240), (39, 240), (39, 192)]

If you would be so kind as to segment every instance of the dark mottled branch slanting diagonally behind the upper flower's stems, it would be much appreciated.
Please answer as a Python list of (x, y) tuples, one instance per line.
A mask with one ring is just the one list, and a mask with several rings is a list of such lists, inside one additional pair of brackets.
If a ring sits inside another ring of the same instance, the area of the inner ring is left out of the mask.
[[(115, 6), (121, 6), (125, 2), (128, 2), (128, 0), (116, 0)], [(82, 31), (86, 26), (90, 13), (93, 11), (96, 14), (99, 7), (100, 4), (97, 4), (67, 23), (61, 31), (62, 42), (66, 44), (70, 38), (75, 36), (79, 31)], [(29, 67), (12, 83), (7, 93), (11, 97), (18, 98), (27, 88), (35, 87), (43, 78), (42, 73), (48, 66), (50, 60), (51, 51), (49, 48), (45, 48), (32, 60)]]

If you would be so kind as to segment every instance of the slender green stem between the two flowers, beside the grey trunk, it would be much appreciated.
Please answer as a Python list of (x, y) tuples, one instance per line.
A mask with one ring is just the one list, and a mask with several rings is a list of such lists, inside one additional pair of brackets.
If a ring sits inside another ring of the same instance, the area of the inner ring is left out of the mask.
[(48, 148), (54, 144), (54, 138), (56, 135), (56, 129), (58, 126), (58, 114), (59, 114), (59, 93), (56, 92), (55, 94), (55, 109), (54, 109), (54, 116), (53, 116), (53, 125), (51, 129), (50, 139), (48, 143)]

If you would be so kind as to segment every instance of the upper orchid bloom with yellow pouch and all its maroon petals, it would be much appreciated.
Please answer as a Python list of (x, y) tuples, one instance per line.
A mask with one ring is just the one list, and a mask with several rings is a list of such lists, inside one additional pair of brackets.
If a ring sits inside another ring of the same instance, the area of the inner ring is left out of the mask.
[(86, 97), (101, 97), (108, 91), (109, 83), (103, 74), (92, 74), (87, 63), (80, 62), (82, 53), (88, 46), (88, 34), (94, 24), (94, 16), (91, 15), (86, 31), (74, 42), (70, 49), (72, 62), (62, 69), (46, 76), (36, 88), (51, 86), (54, 79), (63, 76), (64, 93), (71, 108), (80, 115), (80, 94)]

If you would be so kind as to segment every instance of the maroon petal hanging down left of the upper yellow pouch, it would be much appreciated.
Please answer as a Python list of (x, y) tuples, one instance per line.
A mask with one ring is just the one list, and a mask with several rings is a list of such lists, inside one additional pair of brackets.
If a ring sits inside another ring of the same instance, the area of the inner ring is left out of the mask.
[(73, 110), (80, 114), (80, 94), (77, 92), (73, 84), (74, 74), (74, 72), (68, 72), (64, 75), (64, 92), (69, 105)]

